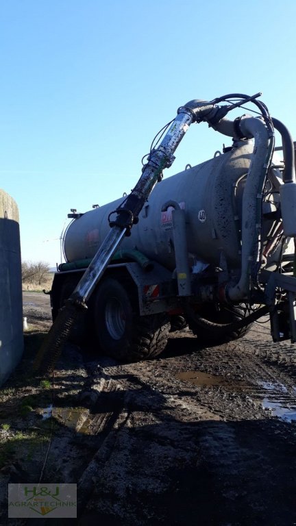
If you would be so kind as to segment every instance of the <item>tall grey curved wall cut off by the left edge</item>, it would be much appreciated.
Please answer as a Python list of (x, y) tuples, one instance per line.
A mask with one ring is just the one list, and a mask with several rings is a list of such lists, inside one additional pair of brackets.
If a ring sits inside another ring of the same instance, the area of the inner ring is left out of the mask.
[(21, 247), (17, 205), (0, 190), (0, 385), (23, 353)]

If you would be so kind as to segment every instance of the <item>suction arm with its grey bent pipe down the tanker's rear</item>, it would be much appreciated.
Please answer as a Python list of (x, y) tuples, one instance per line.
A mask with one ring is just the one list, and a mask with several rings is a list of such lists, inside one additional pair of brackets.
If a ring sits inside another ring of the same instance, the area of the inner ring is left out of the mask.
[[(262, 185), (268, 169), (266, 167), (269, 166), (272, 153), (270, 155), (269, 130), (264, 125), (264, 122), (258, 118), (249, 117), (240, 119), (238, 123), (227, 121), (224, 117), (220, 118), (220, 116), (227, 114), (230, 109), (232, 109), (232, 106), (219, 107), (215, 105), (214, 101), (201, 100), (189, 101), (179, 108), (175, 120), (159, 147), (151, 151), (148, 162), (143, 168), (143, 173), (134, 190), (132, 190), (120, 207), (110, 214), (109, 221), (112, 229), (103, 241), (86, 273), (79, 281), (70, 297), (70, 301), (85, 302), (88, 300), (121, 240), (125, 235), (128, 236), (130, 234), (132, 225), (138, 222), (138, 214), (156, 182), (162, 178), (163, 169), (173, 164), (175, 160), (173, 154), (186, 134), (188, 127), (194, 122), (199, 123), (201, 121), (208, 122), (221, 133), (230, 134), (234, 138), (255, 137), (254, 159), (251, 163), (245, 189), (245, 197), (247, 199), (244, 200), (245, 211), (243, 212), (242, 277), (235, 290), (230, 288), (228, 291), (232, 301), (235, 301), (236, 297), (239, 297), (239, 299), (244, 297), (247, 291), (249, 261), (254, 257), (256, 252), (254, 247), (258, 245), (256, 240), (260, 238), (261, 220), (258, 212), (258, 195), (262, 195)], [(258, 174), (260, 175), (258, 176)], [(116, 214), (114, 218), (112, 218), (113, 214)], [(256, 255), (255, 260), (258, 260), (258, 255)]]

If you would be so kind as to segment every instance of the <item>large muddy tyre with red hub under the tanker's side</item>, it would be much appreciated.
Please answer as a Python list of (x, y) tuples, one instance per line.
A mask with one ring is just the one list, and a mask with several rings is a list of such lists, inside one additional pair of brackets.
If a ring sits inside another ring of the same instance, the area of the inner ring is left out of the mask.
[(139, 316), (132, 293), (113, 278), (103, 279), (95, 294), (95, 330), (102, 353), (138, 362), (164, 350), (170, 329), (166, 316)]

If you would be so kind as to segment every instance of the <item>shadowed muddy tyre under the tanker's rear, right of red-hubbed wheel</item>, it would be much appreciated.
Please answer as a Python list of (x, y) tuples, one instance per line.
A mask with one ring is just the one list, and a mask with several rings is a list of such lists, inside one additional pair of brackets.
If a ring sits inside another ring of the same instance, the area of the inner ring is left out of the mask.
[(186, 312), (189, 328), (201, 342), (225, 343), (243, 338), (251, 330), (253, 323), (246, 327), (230, 327), (245, 318), (246, 309), (243, 305), (230, 308), (212, 303), (204, 303), (199, 309), (190, 305)]

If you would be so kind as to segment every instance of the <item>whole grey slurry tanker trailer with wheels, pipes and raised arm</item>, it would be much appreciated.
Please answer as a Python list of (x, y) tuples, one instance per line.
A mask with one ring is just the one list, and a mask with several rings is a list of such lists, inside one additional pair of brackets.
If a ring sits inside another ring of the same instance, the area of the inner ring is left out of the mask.
[[(88, 336), (101, 353), (136, 361), (158, 355), (178, 327), (219, 342), (268, 314), (274, 342), (296, 341), (294, 144), (259, 96), (186, 103), (130, 195), (71, 211), (51, 307), (53, 320), (64, 304), (79, 310), (69, 315), (72, 338)], [(246, 102), (255, 116), (225, 117)], [(232, 146), (162, 179), (189, 126), (202, 122)]]

